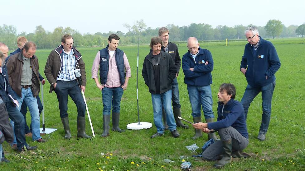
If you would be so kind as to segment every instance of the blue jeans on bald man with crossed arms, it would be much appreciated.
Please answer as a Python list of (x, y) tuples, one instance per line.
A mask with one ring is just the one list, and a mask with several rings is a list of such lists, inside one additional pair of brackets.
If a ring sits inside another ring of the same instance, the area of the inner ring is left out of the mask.
[(214, 113), (212, 110), (213, 99), (211, 86), (187, 85), (187, 91), (192, 106), (192, 116), (200, 117), (202, 106), (204, 118), (214, 118)]

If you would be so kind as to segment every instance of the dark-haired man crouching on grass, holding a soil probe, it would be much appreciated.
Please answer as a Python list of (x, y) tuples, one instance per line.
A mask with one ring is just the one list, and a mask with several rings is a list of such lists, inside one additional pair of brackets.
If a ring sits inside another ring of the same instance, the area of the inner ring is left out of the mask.
[(221, 168), (231, 162), (231, 156), (245, 158), (242, 150), (249, 144), (248, 131), (244, 116), (243, 105), (234, 100), (236, 90), (233, 84), (220, 85), (217, 108), (217, 122), (193, 124), (195, 129), (203, 132), (218, 131), (221, 141), (216, 141), (202, 153), (202, 159), (207, 161), (219, 160), (214, 167)]

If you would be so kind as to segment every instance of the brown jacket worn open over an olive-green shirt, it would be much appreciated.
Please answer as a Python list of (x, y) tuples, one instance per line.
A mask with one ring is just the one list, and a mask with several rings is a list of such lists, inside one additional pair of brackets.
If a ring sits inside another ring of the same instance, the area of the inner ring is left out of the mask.
[[(16, 92), (16, 94), (19, 95), (19, 97), (21, 97), (21, 76), (22, 76), (22, 67), (23, 67), (22, 52), (12, 55), (8, 59), (6, 65), (7, 65), (8, 81), (12, 89)], [(33, 55), (33, 57), (31, 58), (31, 66), (33, 70), (31, 90), (33, 96), (36, 97), (37, 95), (39, 95), (39, 91), (40, 91), (39, 64), (36, 55)]]

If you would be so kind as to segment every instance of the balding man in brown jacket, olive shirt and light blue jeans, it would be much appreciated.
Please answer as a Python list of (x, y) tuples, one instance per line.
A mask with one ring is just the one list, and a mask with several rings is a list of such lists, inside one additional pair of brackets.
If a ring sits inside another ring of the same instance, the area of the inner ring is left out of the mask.
[[(17, 94), (20, 111), (23, 100), (27, 103), (32, 122), (32, 139), (37, 142), (46, 142), (40, 136), (40, 117), (36, 96), (39, 95), (39, 65), (36, 55), (36, 44), (27, 42), (20, 53), (12, 55), (7, 61), (9, 84)], [(23, 132), (24, 134), (24, 132)]]

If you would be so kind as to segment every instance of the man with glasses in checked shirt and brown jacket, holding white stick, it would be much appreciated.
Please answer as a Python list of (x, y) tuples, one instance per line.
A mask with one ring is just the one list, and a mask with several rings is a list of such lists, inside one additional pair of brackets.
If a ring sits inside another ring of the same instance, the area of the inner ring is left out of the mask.
[(71, 35), (61, 37), (61, 45), (52, 50), (45, 67), (45, 75), (50, 82), (50, 93), (55, 91), (59, 102), (61, 122), (65, 129), (65, 139), (71, 139), (68, 118), (68, 95), (77, 107), (77, 137), (92, 138), (85, 132), (85, 101), (81, 91), (85, 91), (85, 63), (80, 52), (73, 47)]

